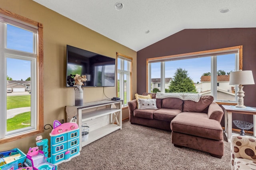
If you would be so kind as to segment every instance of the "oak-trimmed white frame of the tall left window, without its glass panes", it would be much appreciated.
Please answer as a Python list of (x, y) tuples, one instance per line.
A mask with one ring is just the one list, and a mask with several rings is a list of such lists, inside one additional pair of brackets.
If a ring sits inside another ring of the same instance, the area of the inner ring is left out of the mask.
[[(43, 25), (18, 14), (0, 9), (0, 144), (17, 140), (27, 136), (42, 133), (44, 131), (44, 110), (43, 110)], [(6, 48), (7, 24), (34, 32), (33, 52), (18, 51)], [(6, 76), (7, 58), (22, 59), (30, 61), (31, 66), (31, 126), (19, 130), (7, 132), (7, 107), (6, 107)], [(40, 118), (40, 119), (39, 119)]]

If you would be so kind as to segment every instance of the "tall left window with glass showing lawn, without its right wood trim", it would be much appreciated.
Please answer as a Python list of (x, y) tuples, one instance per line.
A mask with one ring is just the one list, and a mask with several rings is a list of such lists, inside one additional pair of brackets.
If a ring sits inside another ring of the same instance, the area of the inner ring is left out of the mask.
[(1, 139), (37, 129), (38, 29), (0, 17)]

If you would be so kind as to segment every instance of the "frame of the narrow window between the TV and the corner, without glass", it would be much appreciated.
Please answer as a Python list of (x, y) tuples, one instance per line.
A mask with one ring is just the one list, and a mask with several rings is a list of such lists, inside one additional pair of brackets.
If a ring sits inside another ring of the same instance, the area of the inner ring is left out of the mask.
[[(123, 102), (122, 107), (128, 106), (128, 101), (131, 100), (131, 94), (132, 94), (132, 88), (131, 88), (131, 75), (132, 75), (132, 58), (128, 57), (126, 55), (122, 55), (120, 53), (117, 53), (117, 60), (121, 59), (121, 65), (120, 69), (118, 69), (118, 62), (117, 62), (117, 74), (120, 75), (119, 77), (119, 93), (120, 93), (120, 99), (124, 100), (124, 75), (127, 77), (126, 81), (126, 103)], [(124, 70), (124, 61), (128, 62), (128, 70)], [(118, 75), (116, 76), (116, 85), (118, 85)], [(116, 94), (118, 96), (118, 88), (116, 88)]]

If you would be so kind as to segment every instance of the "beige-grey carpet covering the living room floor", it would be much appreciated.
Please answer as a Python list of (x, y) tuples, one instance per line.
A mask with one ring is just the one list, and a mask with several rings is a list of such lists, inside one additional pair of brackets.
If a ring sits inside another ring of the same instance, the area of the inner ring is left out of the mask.
[[(90, 137), (90, 132), (89, 132)], [(80, 156), (58, 165), (58, 170), (230, 170), (230, 143), (224, 156), (177, 148), (171, 132), (123, 122), (117, 130), (82, 147)]]

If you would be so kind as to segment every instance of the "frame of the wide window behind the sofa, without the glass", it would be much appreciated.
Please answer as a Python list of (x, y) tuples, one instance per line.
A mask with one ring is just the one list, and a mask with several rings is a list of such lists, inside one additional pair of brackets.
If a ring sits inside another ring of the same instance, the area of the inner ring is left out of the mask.
[[(170, 55), (164, 57), (155, 57), (147, 59), (147, 75), (148, 83), (147, 83), (147, 91), (150, 92), (151, 89), (151, 63), (160, 62), (161, 63), (161, 84), (164, 84), (164, 65), (165, 61), (172, 61), (178, 59), (191, 59), (196, 57), (206, 57), (211, 56), (211, 95), (214, 97), (214, 101), (218, 103), (237, 103), (237, 96), (235, 95), (235, 101), (228, 100), (217, 100), (217, 55), (228, 54), (228, 53), (236, 53), (235, 57), (235, 71), (242, 69), (242, 45), (235, 47), (227, 47), (221, 49), (213, 49), (207, 51), (199, 51), (194, 53), (185, 53), (178, 55)], [(235, 91), (237, 91), (237, 85), (235, 87)], [(165, 93), (165, 91), (161, 91)]]

